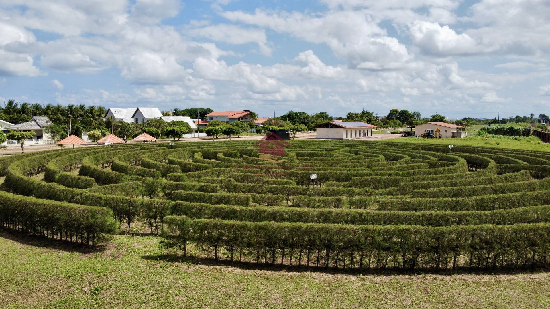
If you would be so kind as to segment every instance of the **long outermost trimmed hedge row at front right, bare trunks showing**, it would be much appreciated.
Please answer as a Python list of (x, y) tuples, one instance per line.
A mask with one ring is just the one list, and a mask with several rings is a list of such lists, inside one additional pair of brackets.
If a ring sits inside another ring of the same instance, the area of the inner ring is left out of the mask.
[[(218, 260), (243, 256), (263, 263), (316, 264), (340, 268), (456, 268), (546, 265), (550, 224), (344, 225), (239, 222), (221, 219), (166, 218), (167, 247), (186, 251), (188, 242), (207, 248)], [(529, 241), (525, 241), (529, 239)], [(287, 260), (285, 260), (285, 257)], [(346, 263), (347, 258), (347, 263)], [(298, 259), (298, 261), (296, 261)]]

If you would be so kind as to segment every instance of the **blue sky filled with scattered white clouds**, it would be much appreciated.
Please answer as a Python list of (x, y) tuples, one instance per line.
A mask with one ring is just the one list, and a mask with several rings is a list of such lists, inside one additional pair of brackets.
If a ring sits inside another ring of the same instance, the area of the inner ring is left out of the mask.
[(550, 2), (12, 0), (0, 102), (550, 113)]

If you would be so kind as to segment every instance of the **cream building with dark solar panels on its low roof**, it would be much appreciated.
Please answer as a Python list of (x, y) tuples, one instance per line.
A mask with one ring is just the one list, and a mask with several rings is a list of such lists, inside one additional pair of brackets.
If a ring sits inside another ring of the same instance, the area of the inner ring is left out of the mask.
[(364, 122), (327, 122), (315, 127), (318, 139), (351, 140), (372, 136), (376, 125)]

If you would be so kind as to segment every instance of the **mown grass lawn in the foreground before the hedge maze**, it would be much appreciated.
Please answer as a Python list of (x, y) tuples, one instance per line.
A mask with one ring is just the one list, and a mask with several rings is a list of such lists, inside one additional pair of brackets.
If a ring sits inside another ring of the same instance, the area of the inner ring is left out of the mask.
[(296, 272), (277, 267), (186, 263), (164, 258), (164, 253), (158, 239), (151, 236), (114, 236), (105, 249), (91, 250), (1, 230), (0, 307), (550, 306), (550, 275), (544, 272)]

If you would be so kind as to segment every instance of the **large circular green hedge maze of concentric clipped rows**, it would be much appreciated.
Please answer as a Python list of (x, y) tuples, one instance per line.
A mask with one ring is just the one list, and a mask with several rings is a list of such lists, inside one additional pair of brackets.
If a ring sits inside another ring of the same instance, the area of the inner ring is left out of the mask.
[[(550, 153), (397, 142), (123, 144), (0, 158), (4, 228), (288, 267), (548, 267)], [(317, 174), (312, 184), (310, 174)], [(314, 190), (312, 190), (314, 189)], [(197, 254), (197, 253), (194, 253)]]

